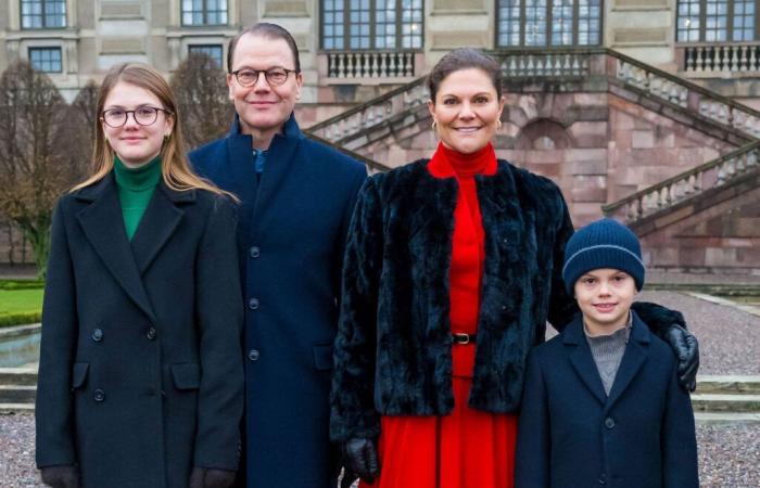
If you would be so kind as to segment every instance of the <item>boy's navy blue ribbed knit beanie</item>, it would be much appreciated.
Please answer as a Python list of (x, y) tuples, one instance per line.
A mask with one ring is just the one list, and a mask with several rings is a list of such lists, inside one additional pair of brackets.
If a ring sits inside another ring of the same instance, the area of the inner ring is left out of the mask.
[(625, 271), (644, 286), (644, 261), (638, 237), (628, 227), (612, 219), (601, 219), (580, 229), (565, 247), (562, 280), (572, 296), (575, 282), (593, 269), (612, 268)]

